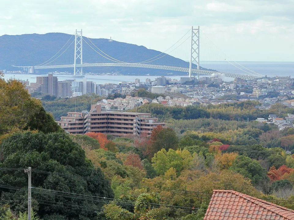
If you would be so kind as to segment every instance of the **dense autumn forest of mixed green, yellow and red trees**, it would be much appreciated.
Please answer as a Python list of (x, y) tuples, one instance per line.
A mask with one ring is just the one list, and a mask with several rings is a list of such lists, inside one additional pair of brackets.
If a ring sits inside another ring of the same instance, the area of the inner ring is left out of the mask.
[(33, 220), (202, 220), (213, 189), (294, 209), (294, 128), (253, 121), (292, 113), (280, 104), (149, 104), (138, 110), (168, 125), (150, 137), (74, 136), (20, 82), (0, 79), (0, 93), (1, 219), (27, 219), (27, 167)]

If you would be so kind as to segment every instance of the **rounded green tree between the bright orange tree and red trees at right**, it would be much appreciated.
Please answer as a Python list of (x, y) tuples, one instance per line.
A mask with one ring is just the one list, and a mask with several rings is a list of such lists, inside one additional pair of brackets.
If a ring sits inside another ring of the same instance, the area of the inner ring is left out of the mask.
[(253, 185), (257, 185), (259, 181), (268, 178), (266, 169), (262, 168), (257, 160), (251, 160), (247, 156), (237, 156), (229, 169), (251, 179)]

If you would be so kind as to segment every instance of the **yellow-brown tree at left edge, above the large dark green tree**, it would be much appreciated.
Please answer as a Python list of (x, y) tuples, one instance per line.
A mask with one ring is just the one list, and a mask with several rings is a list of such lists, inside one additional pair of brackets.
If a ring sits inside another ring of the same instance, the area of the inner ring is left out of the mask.
[(37, 129), (44, 133), (62, 131), (21, 82), (15, 79), (6, 82), (0, 77), (0, 94), (0, 135), (13, 129)]

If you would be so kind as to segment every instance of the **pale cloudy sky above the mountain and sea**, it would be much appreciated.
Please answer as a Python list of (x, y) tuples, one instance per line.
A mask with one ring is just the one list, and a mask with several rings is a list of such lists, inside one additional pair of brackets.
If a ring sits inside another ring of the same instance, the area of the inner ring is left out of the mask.
[(1, 5), (0, 35), (83, 29), (90, 38), (112, 37), (165, 51), (199, 25), (201, 36), (232, 60), (294, 61), (294, 0), (13, 0)]

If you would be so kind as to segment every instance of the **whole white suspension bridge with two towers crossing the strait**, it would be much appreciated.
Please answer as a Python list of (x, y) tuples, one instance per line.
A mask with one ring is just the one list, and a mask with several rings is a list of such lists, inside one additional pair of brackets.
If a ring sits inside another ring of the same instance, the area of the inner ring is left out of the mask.
[[(94, 39), (92, 39), (94, 41)], [(168, 71), (186, 72), (191, 78), (192, 75), (223, 75), (224, 77), (241, 78), (245, 80), (252, 80), (260, 78), (262, 75), (251, 71), (237, 62), (233, 63), (226, 59), (225, 63), (242, 70), (241, 74), (236, 72), (224, 72), (214, 69), (207, 69), (200, 66), (200, 28), (192, 28), (183, 35), (177, 42), (169, 47), (164, 52), (158, 52), (154, 57), (132, 61), (123, 61), (114, 58), (115, 54), (109, 55), (107, 51), (100, 49), (100, 46), (93, 43), (91, 39), (84, 37), (81, 31), (75, 31), (65, 45), (49, 60), (38, 65), (16, 66), (28, 70), (28, 73), (34, 73), (38, 69), (57, 69), (57, 68), (73, 68), (74, 75), (83, 75), (83, 68), (85, 67), (136, 67), (136, 68), (150, 68), (161, 69)], [(113, 40), (109, 40), (111, 43)], [(182, 48), (182, 50), (181, 50)], [(184, 50), (183, 50), (184, 48)], [(187, 49), (189, 51), (187, 52)], [(189, 54), (189, 62), (178, 58), (179, 53), (185, 53), (185, 57)], [(206, 50), (207, 53), (207, 50)], [(208, 52), (209, 53), (209, 52)], [(175, 54), (175, 55), (173, 55)], [(218, 59), (214, 57), (214, 59)], [(223, 60), (223, 61), (224, 61)]]

